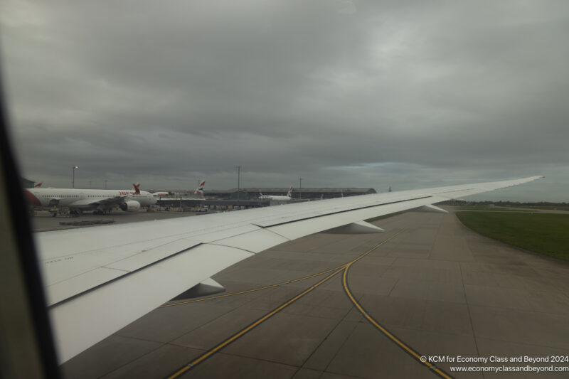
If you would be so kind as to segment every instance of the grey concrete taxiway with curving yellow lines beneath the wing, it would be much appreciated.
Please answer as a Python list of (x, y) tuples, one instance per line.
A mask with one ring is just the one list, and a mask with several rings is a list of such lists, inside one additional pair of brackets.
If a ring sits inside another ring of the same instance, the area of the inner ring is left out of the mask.
[(165, 304), (63, 373), (494, 378), (503, 374), (451, 373), (452, 363), (420, 357), (569, 355), (569, 265), (479, 236), (454, 214), (405, 213), (376, 225), (385, 233), (320, 233), (239, 262), (213, 277), (227, 292)]

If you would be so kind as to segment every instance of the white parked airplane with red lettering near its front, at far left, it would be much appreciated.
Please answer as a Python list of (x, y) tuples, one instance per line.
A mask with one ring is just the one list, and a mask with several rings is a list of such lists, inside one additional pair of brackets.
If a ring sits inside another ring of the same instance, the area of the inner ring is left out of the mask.
[(103, 214), (118, 206), (125, 212), (136, 212), (141, 206), (153, 205), (156, 199), (147, 191), (140, 191), (140, 184), (132, 190), (92, 190), (75, 188), (24, 189), (28, 203), (37, 207), (68, 207), (73, 213), (93, 210)]

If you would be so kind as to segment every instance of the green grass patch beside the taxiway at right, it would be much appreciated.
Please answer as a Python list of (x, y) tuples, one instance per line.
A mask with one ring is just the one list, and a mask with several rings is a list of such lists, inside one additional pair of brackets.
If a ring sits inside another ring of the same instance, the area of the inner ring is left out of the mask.
[(458, 212), (477, 233), (522, 249), (569, 260), (569, 215), (551, 213)]

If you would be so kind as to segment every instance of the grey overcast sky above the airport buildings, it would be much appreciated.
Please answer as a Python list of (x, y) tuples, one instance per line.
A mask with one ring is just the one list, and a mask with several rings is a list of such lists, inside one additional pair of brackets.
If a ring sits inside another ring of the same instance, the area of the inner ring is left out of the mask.
[(23, 175), (155, 190), (545, 175), (569, 201), (568, 1), (1, 4)]

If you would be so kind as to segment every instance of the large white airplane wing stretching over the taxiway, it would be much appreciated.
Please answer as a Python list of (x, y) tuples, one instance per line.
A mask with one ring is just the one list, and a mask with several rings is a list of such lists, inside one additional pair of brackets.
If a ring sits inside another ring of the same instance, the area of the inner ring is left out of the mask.
[(537, 178), (36, 233), (60, 362), (269, 247), (344, 225), (371, 230), (363, 220)]

